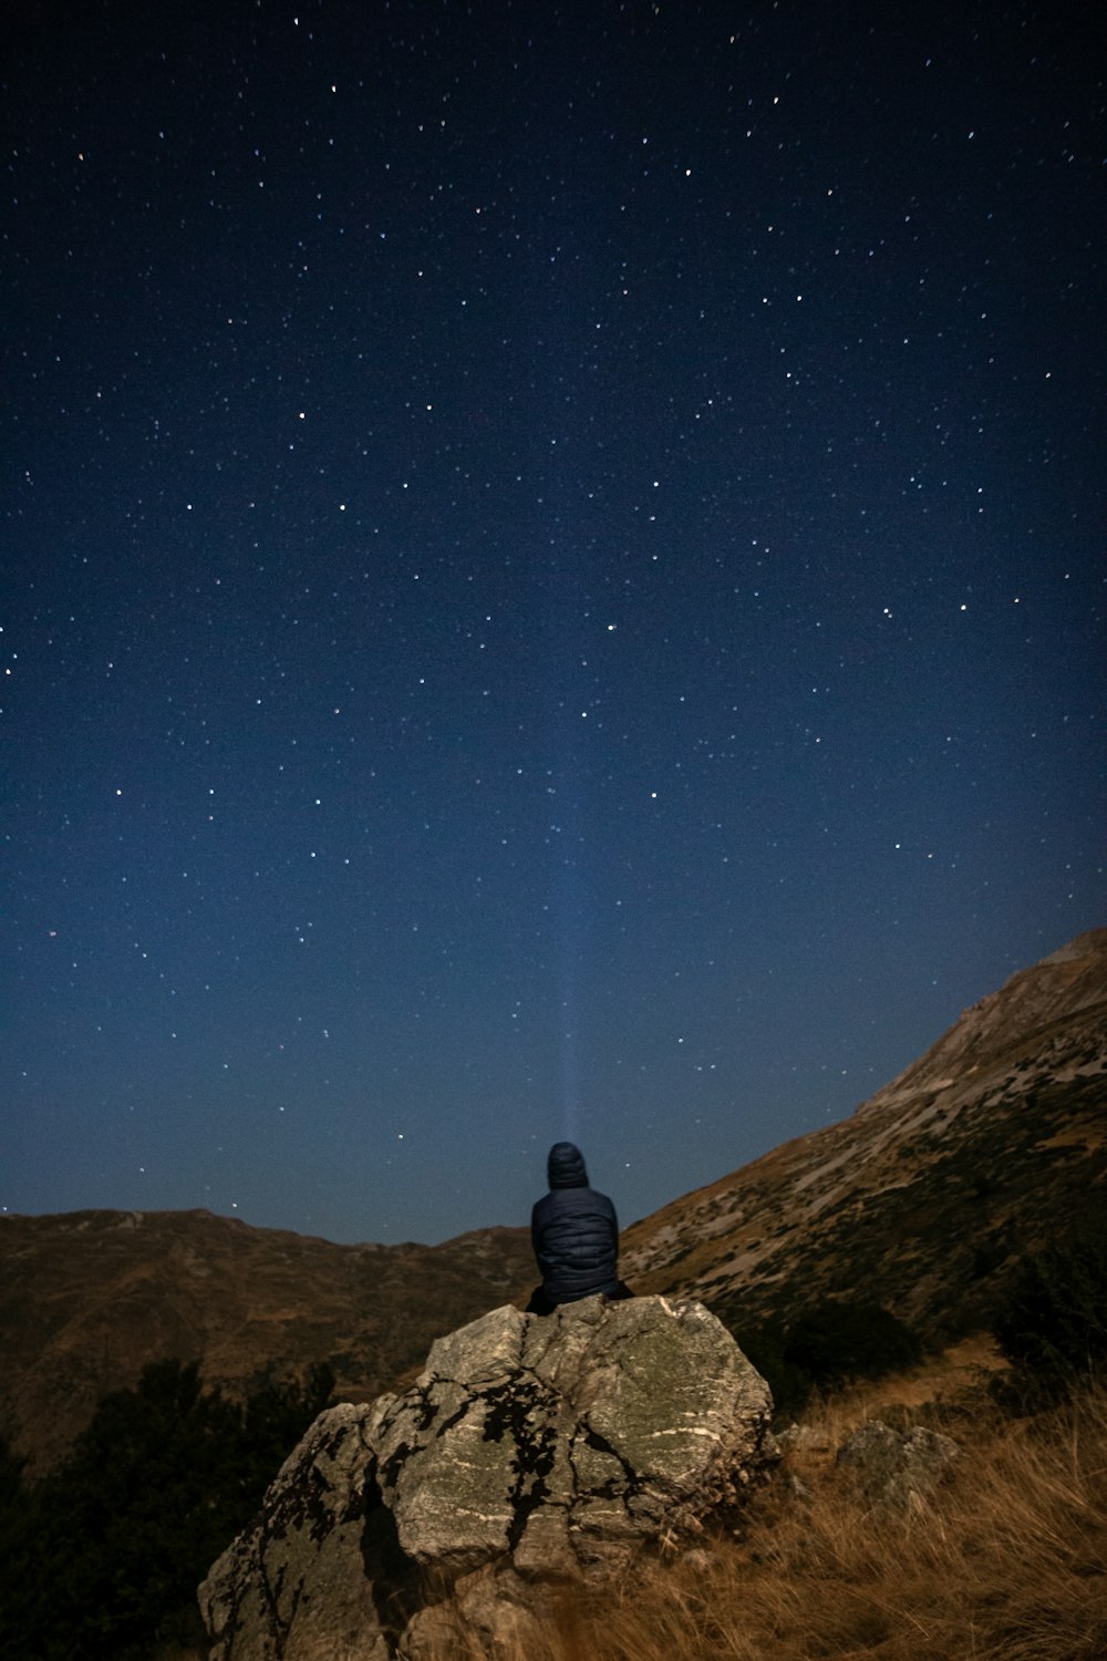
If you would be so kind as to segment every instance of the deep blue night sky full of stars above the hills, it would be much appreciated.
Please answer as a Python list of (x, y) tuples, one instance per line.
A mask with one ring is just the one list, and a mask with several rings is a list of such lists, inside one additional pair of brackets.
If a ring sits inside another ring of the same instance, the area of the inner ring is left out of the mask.
[(0, 1209), (629, 1222), (1105, 920), (1094, 12), (5, 25)]

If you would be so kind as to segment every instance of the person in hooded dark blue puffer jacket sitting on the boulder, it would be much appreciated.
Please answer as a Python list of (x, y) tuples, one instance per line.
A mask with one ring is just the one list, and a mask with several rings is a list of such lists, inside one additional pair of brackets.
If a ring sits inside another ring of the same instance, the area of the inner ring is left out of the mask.
[(531, 1213), (531, 1244), (541, 1286), (529, 1316), (549, 1316), (581, 1297), (634, 1297), (619, 1279), (619, 1222), (606, 1194), (588, 1186), (584, 1156), (574, 1143), (554, 1143), (548, 1159), (549, 1193)]

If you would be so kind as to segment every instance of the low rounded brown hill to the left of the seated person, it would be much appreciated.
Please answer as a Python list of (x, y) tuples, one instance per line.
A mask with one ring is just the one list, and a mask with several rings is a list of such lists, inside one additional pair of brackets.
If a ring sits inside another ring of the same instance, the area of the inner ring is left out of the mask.
[(325, 1360), (340, 1395), (372, 1399), (533, 1284), (526, 1229), (334, 1246), (209, 1211), (5, 1216), (0, 1435), (43, 1470), (108, 1390), (168, 1355), (234, 1395)]

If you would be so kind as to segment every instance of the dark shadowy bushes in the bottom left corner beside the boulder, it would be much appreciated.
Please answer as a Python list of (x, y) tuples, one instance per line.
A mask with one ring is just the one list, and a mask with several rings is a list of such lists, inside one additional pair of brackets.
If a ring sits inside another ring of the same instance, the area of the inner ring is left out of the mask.
[(199, 1639), (196, 1586), (332, 1385), (317, 1369), (239, 1405), (204, 1390), (196, 1362), (154, 1362), (35, 1487), (0, 1460), (3, 1654), (146, 1661), (158, 1643)]

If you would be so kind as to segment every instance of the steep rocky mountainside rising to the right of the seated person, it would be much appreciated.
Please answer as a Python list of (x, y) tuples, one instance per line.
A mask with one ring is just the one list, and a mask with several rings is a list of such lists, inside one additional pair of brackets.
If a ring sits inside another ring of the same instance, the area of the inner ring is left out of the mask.
[(1107, 928), (959, 1022), (840, 1124), (627, 1229), (639, 1291), (735, 1330), (827, 1299), (931, 1339), (986, 1324), (1017, 1257), (1107, 1206)]

